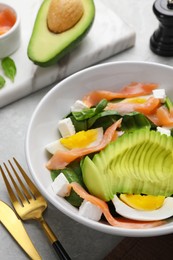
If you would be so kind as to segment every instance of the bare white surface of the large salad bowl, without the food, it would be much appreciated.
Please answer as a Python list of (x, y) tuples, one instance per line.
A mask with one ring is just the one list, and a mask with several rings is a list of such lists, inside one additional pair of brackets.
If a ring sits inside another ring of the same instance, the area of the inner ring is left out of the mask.
[(94, 66), (80, 71), (52, 88), (38, 104), (31, 118), (26, 138), (27, 162), (33, 179), (42, 194), (70, 218), (93, 229), (122, 236), (158, 236), (173, 232), (173, 219), (150, 229), (125, 229), (94, 222), (77, 214), (77, 210), (64, 199), (54, 195), (49, 186), (52, 182), (45, 168), (48, 160), (45, 145), (57, 138), (57, 122), (70, 106), (94, 89), (118, 90), (132, 81), (159, 83), (173, 97), (173, 68), (145, 62), (115, 62)]

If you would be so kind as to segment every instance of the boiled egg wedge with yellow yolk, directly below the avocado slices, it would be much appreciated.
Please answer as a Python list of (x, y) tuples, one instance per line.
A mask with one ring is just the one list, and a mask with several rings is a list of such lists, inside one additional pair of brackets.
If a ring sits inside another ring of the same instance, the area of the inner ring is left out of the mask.
[(116, 212), (129, 219), (154, 221), (173, 216), (172, 197), (121, 194), (114, 195), (112, 202)]

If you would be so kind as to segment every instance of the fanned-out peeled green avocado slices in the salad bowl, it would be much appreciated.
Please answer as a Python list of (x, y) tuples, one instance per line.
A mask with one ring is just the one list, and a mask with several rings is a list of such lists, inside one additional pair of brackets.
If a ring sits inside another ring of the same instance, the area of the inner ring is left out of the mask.
[(125, 133), (82, 164), (89, 192), (105, 201), (114, 194), (173, 194), (173, 137), (149, 129)]

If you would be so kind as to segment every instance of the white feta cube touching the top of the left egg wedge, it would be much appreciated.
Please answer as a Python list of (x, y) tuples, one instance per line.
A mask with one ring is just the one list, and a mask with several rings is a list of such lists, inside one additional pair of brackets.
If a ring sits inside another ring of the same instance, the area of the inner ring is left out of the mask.
[(58, 122), (58, 129), (62, 137), (71, 136), (76, 133), (75, 127), (69, 117), (64, 118)]

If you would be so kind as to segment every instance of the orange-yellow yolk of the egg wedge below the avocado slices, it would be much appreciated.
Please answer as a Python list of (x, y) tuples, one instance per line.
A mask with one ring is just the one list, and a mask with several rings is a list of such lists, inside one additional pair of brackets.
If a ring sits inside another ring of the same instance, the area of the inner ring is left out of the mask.
[(120, 199), (128, 206), (139, 210), (155, 210), (163, 205), (164, 196), (121, 194)]

